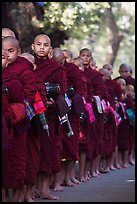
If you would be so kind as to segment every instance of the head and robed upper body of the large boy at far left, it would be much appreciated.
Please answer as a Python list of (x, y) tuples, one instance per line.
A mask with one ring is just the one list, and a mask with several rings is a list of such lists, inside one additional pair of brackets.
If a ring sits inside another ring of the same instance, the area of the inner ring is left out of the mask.
[[(19, 56), (21, 54), (21, 48), (16, 38), (4, 38), (2, 40), (2, 48), (8, 53), (8, 66), (6, 70), (20, 77), (22, 83), (24, 83), (25, 98), (30, 104), (33, 104), (35, 101), (37, 85), (32, 64), (25, 58)], [(27, 78), (28, 73), (31, 76), (30, 78)]]

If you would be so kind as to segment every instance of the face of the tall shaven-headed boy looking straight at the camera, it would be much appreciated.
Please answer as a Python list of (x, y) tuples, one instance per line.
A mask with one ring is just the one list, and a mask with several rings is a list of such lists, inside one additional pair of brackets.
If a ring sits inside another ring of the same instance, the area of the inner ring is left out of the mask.
[(37, 36), (32, 44), (32, 50), (39, 58), (47, 57), (51, 50), (50, 39), (46, 35)]

